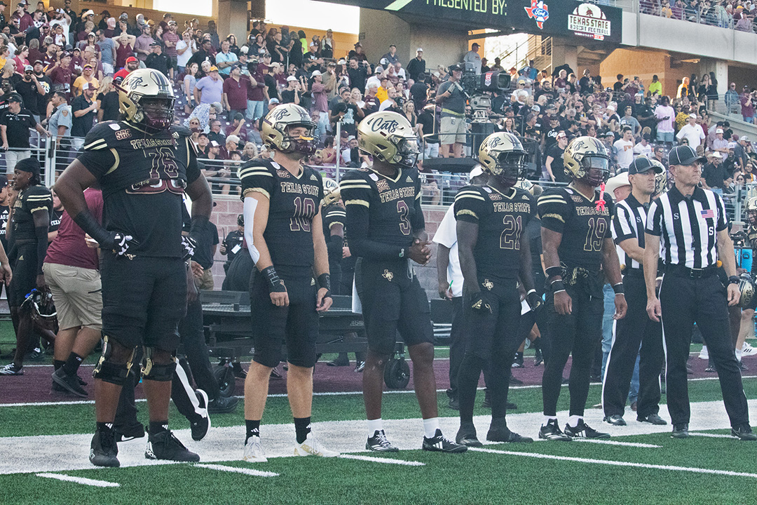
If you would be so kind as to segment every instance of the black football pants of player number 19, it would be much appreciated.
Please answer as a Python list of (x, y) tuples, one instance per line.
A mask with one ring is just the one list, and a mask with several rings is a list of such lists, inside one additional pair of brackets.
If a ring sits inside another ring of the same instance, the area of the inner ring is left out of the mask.
[(568, 315), (556, 313), (554, 295), (551, 290), (547, 291), (550, 358), (544, 366), (544, 376), (541, 379), (545, 416), (557, 415), (562, 369), (568, 363), (571, 353), (570, 415), (584, 415), (594, 348), (602, 338), (602, 316), (605, 310), (602, 291), (599, 291), (599, 296), (591, 296), (586, 279), (579, 280), (576, 285), (566, 285), (565, 291), (572, 299), (572, 312)]

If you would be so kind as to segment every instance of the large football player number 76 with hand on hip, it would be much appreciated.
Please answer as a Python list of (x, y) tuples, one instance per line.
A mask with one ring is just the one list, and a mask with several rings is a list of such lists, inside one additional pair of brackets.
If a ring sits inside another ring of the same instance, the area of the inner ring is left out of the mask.
[[(182, 126), (172, 126), (175, 98), (157, 70), (129, 73), (117, 86), (119, 121), (96, 125), (83, 151), (61, 174), (55, 191), (68, 214), (100, 248), (102, 355), (95, 366), (97, 429), (89, 460), (119, 466), (113, 429), (120, 391), (135, 349), (145, 348), (142, 384), (150, 423), (145, 457), (198, 461), (168, 429), (177, 328), (187, 303), (187, 271), (198, 231), (213, 207), (195, 148)], [(104, 226), (86, 206), (83, 190), (98, 184)], [(182, 195), (192, 198), (192, 229), (182, 238)]]

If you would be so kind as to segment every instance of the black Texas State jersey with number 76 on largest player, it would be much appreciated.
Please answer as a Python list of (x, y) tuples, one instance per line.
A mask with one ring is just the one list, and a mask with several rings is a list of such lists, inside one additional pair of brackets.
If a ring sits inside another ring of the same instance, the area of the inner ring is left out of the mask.
[(129, 252), (182, 257), (187, 184), (200, 176), (195, 146), (183, 126), (147, 133), (125, 121), (89, 130), (79, 161), (98, 179), (106, 229), (139, 242)]

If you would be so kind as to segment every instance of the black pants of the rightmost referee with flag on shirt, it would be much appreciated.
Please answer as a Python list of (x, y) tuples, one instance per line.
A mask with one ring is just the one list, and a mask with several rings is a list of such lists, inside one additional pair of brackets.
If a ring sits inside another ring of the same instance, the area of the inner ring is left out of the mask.
[(671, 422), (674, 425), (687, 423), (691, 416), (686, 360), (689, 357), (691, 331), (696, 323), (718, 371), (723, 403), (731, 426), (748, 423), (749, 409), (741, 384), (739, 363), (731, 343), (726, 289), (715, 271), (699, 279), (693, 279), (686, 273), (666, 272), (660, 286), (660, 304), (668, 363), (666, 382)]

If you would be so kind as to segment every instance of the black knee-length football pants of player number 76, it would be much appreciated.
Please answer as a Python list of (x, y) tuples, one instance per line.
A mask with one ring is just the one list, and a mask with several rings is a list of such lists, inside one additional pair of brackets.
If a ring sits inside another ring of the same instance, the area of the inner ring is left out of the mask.
[(103, 255), (102, 332), (126, 348), (176, 351), (187, 309), (185, 263), (176, 257)]

